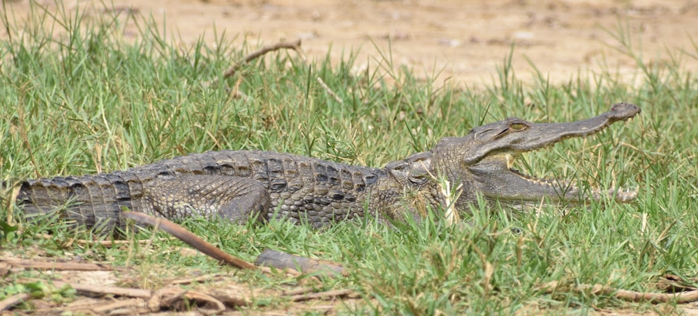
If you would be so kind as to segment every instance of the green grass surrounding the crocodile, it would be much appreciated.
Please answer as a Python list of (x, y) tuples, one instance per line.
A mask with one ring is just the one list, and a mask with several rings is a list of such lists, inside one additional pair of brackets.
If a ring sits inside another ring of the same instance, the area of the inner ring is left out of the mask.
[[(138, 39), (122, 39), (126, 22), (140, 25)], [(591, 139), (570, 139), (518, 162), (535, 175), (639, 187), (637, 201), (628, 205), (593, 204), (567, 212), (543, 207), (517, 216), (475, 207), (472, 214), (461, 214), (471, 227), (438, 220), (397, 228), (366, 220), (321, 231), (276, 222), (262, 227), (200, 219), (185, 223), (246, 260), (274, 248), (345, 262), (350, 275), (324, 286), (360, 292), (356, 313), (643, 311), (655, 307), (608, 295), (551, 295), (536, 285), (563, 281), (653, 291), (664, 274), (698, 274), (698, 80), (681, 68), (681, 58), (696, 56), (698, 47), (692, 54), (676, 52), (662, 65), (646, 64), (621, 28), (612, 31), (619, 52), (635, 57), (643, 70), (636, 86), (613, 72), (564, 84), (549, 84), (540, 74), (533, 84), (523, 84), (509, 56), (503, 56), (489, 88), (468, 90), (393, 70), (389, 52), (380, 65), (358, 73), (350, 53), (333, 65), (276, 52), (222, 80), (232, 63), (257, 47), (232, 47), (219, 35), (216, 45), (200, 40), (182, 49), (161, 35), (160, 26), (140, 17), (53, 16), (37, 7), (29, 22), (4, 16), (3, 26), (12, 37), (0, 44), (2, 180), (115, 171), (223, 149), (383, 166), (428, 150), (442, 137), (461, 136), (508, 116), (565, 122), (595, 116), (620, 101), (642, 107), (628, 125), (614, 125)], [(240, 94), (235, 94), (226, 88), (235, 87), (238, 78)], [(10, 214), (22, 222), (20, 210), (3, 203), (0, 219)], [(89, 232), (55, 226), (54, 238), (36, 237), (48, 225), (24, 223), (10, 234), (4, 228), (0, 250), (128, 265), (140, 271), (144, 278), (138, 285), (147, 288), (158, 287), (161, 278), (228, 269), (202, 256), (168, 251), (181, 246), (174, 241), (131, 250), (66, 246), (69, 238), (91, 239)], [(130, 237), (144, 239), (151, 232)], [(256, 272), (235, 278), (270, 288), (300, 282)], [(12, 278), (0, 281), (0, 287), (14, 286)]]

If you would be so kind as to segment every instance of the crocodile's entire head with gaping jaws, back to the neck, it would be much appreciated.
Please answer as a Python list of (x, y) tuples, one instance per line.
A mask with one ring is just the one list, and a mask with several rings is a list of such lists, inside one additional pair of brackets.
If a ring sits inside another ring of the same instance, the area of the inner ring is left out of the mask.
[[(619, 202), (629, 202), (637, 192), (616, 188), (583, 191), (569, 180), (540, 179), (515, 170), (512, 164), (522, 152), (544, 148), (571, 137), (595, 134), (637, 113), (640, 113), (638, 106), (618, 103), (600, 116), (572, 123), (530, 123), (520, 118), (507, 118), (475, 127), (463, 137), (443, 139), (431, 150), (431, 160), (428, 161), (431, 165), (426, 168), (434, 175), (446, 175), (452, 184), (462, 184), (459, 204), (475, 200), (477, 192), (487, 200), (503, 203), (531, 203), (544, 199), (583, 203), (609, 196)], [(425, 165), (422, 163), (422, 166)], [(418, 171), (412, 173), (416, 175), (420, 173)], [(426, 173), (424, 168), (422, 171)]]

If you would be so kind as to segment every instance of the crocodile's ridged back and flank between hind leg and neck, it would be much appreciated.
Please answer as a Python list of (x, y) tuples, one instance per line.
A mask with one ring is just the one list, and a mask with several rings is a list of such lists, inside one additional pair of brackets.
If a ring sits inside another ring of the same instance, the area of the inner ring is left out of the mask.
[[(302, 220), (313, 226), (364, 215), (364, 203), (385, 195), (385, 171), (278, 152), (220, 151), (162, 161), (176, 173), (247, 177), (267, 189), (266, 218)], [(382, 182), (380, 180), (383, 180)], [(392, 184), (392, 183), (391, 183)], [(383, 186), (380, 189), (379, 186)], [(392, 187), (391, 187), (392, 189)], [(374, 196), (371, 196), (371, 193)], [(385, 196), (384, 196), (385, 198)]]

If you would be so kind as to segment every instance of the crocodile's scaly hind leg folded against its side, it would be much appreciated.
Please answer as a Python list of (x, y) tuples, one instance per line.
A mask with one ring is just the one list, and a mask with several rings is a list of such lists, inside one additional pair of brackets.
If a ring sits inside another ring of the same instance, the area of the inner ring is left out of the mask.
[(144, 185), (142, 208), (167, 219), (221, 216), (234, 223), (265, 220), (271, 207), (261, 182), (230, 175), (160, 176)]

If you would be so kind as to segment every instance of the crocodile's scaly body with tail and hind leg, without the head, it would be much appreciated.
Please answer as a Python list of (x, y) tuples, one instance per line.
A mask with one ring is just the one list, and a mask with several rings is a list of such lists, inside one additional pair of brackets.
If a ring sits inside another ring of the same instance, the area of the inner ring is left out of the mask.
[(231, 221), (277, 216), (313, 226), (364, 216), (364, 203), (390, 213), (402, 186), (385, 170), (279, 152), (220, 151), (176, 157), (126, 171), (27, 180), (17, 201), (27, 213), (74, 201), (68, 219), (120, 225), (124, 207), (183, 219)]

